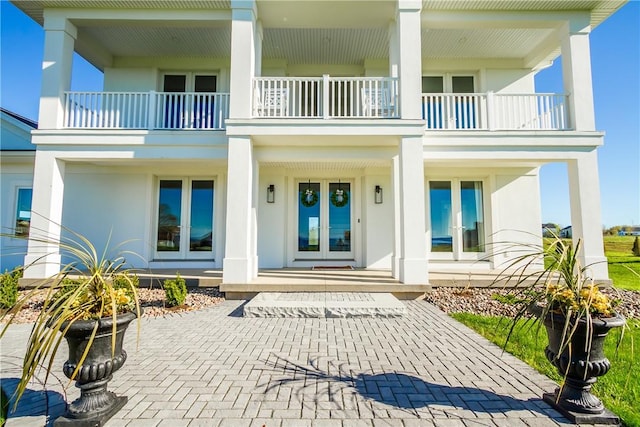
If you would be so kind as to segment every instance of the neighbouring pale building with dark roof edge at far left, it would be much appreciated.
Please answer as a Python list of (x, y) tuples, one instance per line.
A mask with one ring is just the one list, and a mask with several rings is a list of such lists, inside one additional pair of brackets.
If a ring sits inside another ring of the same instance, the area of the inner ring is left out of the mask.
[[(0, 227), (2, 233), (24, 237), (31, 222), (31, 189), (36, 147), (31, 131), (38, 124), (0, 108)], [(0, 238), (0, 272), (22, 265), (27, 242), (20, 238)]]

